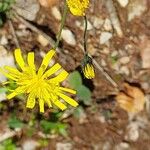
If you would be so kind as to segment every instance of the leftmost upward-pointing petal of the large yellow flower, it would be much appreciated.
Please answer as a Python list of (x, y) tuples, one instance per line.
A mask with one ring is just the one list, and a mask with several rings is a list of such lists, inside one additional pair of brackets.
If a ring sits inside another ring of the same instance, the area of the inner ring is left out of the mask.
[(24, 70), (25, 69), (25, 63), (24, 63), (24, 60), (22, 58), (22, 55), (21, 55), (21, 50), (18, 48), (18, 49), (15, 49), (15, 59), (16, 59), (16, 62), (18, 63), (19, 67)]

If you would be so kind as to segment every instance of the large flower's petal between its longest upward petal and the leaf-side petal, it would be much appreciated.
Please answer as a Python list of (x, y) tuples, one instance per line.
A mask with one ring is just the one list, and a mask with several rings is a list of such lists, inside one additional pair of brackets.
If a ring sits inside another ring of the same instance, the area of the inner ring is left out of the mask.
[(61, 68), (60, 64), (55, 64), (54, 66), (52, 66), (49, 70), (47, 70), (44, 75), (43, 78), (47, 78), (49, 76), (51, 76), (52, 74), (54, 74), (55, 72), (57, 72), (59, 69)]

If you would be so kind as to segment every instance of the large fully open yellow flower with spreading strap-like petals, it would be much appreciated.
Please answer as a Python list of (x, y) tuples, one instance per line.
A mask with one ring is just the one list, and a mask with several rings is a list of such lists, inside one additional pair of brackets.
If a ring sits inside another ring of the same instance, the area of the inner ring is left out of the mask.
[[(9, 66), (5, 66), (5, 70), (0, 70), (7, 78), (14, 80), (17, 84), (17, 88), (7, 96), (8, 99), (25, 93), (28, 95), (26, 107), (32, 109), (36, 101), (38, 101), (40, 112), (44, 112), (44, 103), (49, 107), (52, 107), (52, 104), (54, 104), (61, 110), (65, 110), (67, 106), (59, 98), (74, 107), (78, 105), (75, 100), (64, 94), (64, 92), (75, 94), (76, 91), (60, 86), (60, 83), (68, 76), (68, 73), (64, 69), (61, 69), (58, 63), (47, 70), (49, 61), (55, 54), (54, 50), (50, 50), (46, 54), (39, 70), (36, 70), (33, 52), (28, 53), (28, 64), (24, 62), (20, 49), (16, 49), (14, 54), (21, 71)], [(57, 71), (59, 71), (59, 74), (54, 76), (54, 73)]]

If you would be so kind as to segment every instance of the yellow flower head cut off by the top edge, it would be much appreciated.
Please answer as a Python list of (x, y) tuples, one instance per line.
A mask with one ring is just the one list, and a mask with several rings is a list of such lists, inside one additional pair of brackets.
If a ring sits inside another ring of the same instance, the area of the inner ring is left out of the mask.
[(89, 6), (89, 0), (67, 0), (71, 13), (75, 16), (84, 16), (85, 9)]

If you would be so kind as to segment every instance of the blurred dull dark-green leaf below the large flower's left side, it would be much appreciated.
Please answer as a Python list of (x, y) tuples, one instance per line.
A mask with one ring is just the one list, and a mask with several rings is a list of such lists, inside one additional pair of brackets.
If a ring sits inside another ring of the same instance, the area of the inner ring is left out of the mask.
[(19, 119), (17, 119), (15, 116), (12, 116), (8, 120), (8, 125), (10, 128), (15, 129), (15, 128), (22, 128), (24, 124)]

